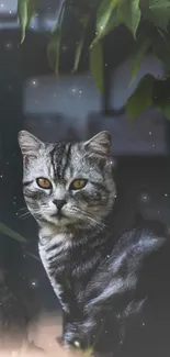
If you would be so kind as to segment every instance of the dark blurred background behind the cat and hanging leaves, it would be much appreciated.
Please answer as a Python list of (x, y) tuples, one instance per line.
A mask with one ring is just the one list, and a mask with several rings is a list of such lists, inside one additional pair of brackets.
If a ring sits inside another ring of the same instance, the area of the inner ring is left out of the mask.
[[(0, 232), (0, 267), (8, 270), (12, 289), (23, 291), (24, 287), (25, 294), (34, 297), (35, 311), (54, 310), (58, 302), (36, 257), (36, 223), (24, 216), (19, 130), (26, 129), (49, 142), (84, 140), (109, 130), (121, 208), (117, 232), (133, 224), (137, 210), (146, 219), (167, 224), (170, 216), (169, 122), (149, 109), (129, 124), (124, 112), (126, 99), (144, 74), (162, 75), (160, 62), (146, 56), (129, 88), (132, 37), (118, 27), (104, 43), (105, 93), (101, 96), (88, 60), (70, 75), (72, 32), (63, 45), (60, 76), (56, 79), (47, 63), (46, 45), (59, 5), (56, 0), (38, 2), (21, 46), (16, 1), (0, 1), (0, 222), (29, 242), (18, 243)], [(68, 13), (66, 32), (70, 23)]]

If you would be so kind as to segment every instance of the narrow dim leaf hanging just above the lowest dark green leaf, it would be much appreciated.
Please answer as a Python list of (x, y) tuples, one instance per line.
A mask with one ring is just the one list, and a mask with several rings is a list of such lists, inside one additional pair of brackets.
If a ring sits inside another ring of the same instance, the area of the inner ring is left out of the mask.
[(131, 70), (131, 82), (129, 87), (134, 83), (134, 80), (136, 79), (136, 75), (139, 70), (139, 67), (141, 65), (141, 60), (145, 56), (145, 54), (148, 52), (149, 47), (151, 45), (151, 38), (143, 38), (140, 43), (137, 43), (135, 55), (132, 63), (132, 70)]

